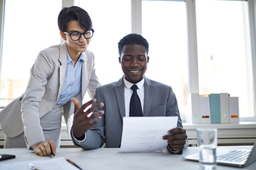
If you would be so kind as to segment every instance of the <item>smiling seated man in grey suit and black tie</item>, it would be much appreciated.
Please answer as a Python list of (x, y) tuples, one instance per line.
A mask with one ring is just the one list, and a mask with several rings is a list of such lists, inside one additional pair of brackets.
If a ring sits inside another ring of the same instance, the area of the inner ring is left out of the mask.
[[(124, 116), (178, 116), (177, 128), (170, 129), (163, 140), (167, 140), (166, 145), (171, 154), (182, 154), (182, 149), (187, 148), (186, 130), (182, 129), (172, 88), (144, 76), (150, 60), (148, 51), (149, 44), (143, 36), (126, 35), (118, 42), (119, 63), (124, 77), (118, 82), (97, 88), (94, 99), (81, 108), (80, 103), (72, 99), (76, 106), (71, 130), (75, 145), (84, 149), (101, 148), (105, 143), (107, 148), (120, 147)], [(130, 107), (130, 98), (136, 93), (131, 90), (133, 85), (138, 86), (138, 101), (141, 105), (138, 115), (131, 115), (136, 112), (133, 106)], [(85, 111), (89, 104), (93, 104), (93, 107)], [(88, 116), (95, 110), (99, 112)]]

